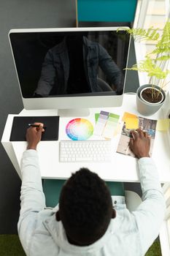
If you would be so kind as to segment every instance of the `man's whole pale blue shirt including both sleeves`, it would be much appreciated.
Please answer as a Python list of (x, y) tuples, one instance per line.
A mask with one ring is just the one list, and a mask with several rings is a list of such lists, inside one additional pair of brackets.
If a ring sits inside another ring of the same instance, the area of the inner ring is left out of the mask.
[(113, 197), (117, 200), (117, 217), (110, 221), (104, 236), (90, 246), (74, 246), (69, 244), (62, 222), (55, 220), (58, 206), (45, 208), (37, 151), (25, 151), (18, 233), (26, 255), (143, 256), (158, 236), (166, 206), (152, 159), (144, 157), (138, 164), (143, 200), (140, 206), (130, 212), (124, 197)]

